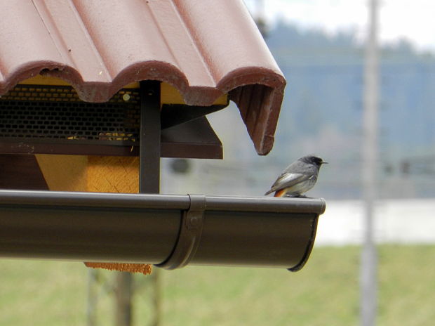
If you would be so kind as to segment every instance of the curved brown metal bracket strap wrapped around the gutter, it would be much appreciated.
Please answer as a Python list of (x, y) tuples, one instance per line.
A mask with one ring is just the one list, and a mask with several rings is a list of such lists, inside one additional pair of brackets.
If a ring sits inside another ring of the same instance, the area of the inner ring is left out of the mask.
[(172, 254), (155, 266), (165, 269), (175, 269), (186, 266), (194, 257), (203, 230), (204, 211), (206, 210), (205, 195), (189, 195), (190, 207), (183, 212), (180, 234)]

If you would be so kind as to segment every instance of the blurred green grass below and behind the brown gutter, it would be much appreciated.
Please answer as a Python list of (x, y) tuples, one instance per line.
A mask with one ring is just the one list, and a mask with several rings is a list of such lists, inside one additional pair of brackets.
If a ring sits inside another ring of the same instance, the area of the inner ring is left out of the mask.
[[(435, 246), (379, 247), (378, 325), (433, 325), (434, 257)], [(86, 325), (82, 263), (1, 260), (0, 267), (0, 325)], [(198, 266), (159, 272), (165, 326), (358, 325), (359, 247), (314, 248), (297, 273)], [(135, 325), (147, 325), (150, 278), (135, 281)], [(98, 325), (113, 325), (113, 313), (101, 289)]]

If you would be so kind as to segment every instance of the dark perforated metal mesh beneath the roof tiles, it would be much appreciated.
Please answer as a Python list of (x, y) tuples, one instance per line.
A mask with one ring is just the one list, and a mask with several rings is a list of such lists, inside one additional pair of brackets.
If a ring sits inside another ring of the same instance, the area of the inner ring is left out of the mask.
[(87, 103), (71, 86), (18, 85), (0, 97), (0, 139), (133, 145), (140, 130), (138, 89), (122, 89), (107, 103)]

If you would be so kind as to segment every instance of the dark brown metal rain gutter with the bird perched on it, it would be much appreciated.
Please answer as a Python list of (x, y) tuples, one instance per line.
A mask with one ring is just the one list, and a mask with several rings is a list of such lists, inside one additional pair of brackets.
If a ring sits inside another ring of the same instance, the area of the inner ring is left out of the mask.
[(316, 198), (0, 190), (0, 257), (299, 270)]

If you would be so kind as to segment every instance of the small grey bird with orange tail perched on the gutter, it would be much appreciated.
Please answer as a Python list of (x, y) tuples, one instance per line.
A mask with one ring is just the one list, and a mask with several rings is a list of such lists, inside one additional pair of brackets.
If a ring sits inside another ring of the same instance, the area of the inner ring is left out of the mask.
[(320, 157), (307, 155), (290, 164), (276, 179), (265, 195), (274, 197), (304, 197), (303, 193), (314, 187), (323, 161)]

